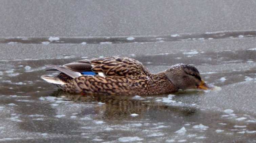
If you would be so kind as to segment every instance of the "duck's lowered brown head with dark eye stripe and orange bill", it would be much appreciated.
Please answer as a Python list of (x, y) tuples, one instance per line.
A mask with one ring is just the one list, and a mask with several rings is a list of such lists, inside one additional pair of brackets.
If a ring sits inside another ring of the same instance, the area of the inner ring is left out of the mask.
[(166, 77), (179, 89), (208, 89), (198, 70), (191, 65), (176, 64), (165, 71)]

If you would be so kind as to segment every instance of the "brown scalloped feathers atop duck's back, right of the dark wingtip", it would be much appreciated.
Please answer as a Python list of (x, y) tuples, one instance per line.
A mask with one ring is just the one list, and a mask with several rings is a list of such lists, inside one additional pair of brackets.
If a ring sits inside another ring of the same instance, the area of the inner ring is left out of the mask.
[(95, 73), (106, 76), (151, 75), (150, 71), (139, 61), (128, 57), (106, 57), (90, 61)]

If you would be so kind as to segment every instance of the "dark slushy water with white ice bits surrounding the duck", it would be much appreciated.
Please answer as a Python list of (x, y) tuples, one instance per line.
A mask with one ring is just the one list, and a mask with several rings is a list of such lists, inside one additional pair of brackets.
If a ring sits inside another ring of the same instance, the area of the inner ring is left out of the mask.
[(58, 74), (45, 64), (81, 57), (2, 60), (0, 142), (256, 142), (255, 55), (253, 47), (130, 55), (152, 72), (193, 64), (207, 83), (221, 87), (150, 96), (69, 94), (40, 79)]

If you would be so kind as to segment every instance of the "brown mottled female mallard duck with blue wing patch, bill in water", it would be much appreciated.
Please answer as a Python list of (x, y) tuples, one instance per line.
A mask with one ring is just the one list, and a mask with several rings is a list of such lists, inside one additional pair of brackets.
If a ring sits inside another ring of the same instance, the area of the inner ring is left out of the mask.
[(176, 64), (164, 72), (151, 73), (141, 62), (128, 57), (84, 59), (62, 66), (58, 76), (41, 76), (67, 92), (84, 94), (167, 94), (179, 89), (208, 89), (198, 70)]

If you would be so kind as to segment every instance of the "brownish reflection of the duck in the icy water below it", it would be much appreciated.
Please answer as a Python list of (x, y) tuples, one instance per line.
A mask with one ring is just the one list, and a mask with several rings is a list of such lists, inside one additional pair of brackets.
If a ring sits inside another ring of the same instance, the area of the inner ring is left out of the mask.
[[(169, 118), (176, 116), (191, 116), (196, 113), (197, 108), (190, 106), (171, 106), (164, 103), (155, 102), (155, 98), (141, 96), (142, 99), (134, 99), (133, 96), (116, 95), (80, 95), (69, 94), (62, 91), (56, 91), (52, 96), (65, 97), (75, 102), (84, 102), (95, 104), (93, 108), (84, 108), (79, 113), (80, 116), (97, 114), (99, 118), (107, 119), (128, 119), (132, 113), (139, 115), (154, 116), (157, 113), (168, 112)], [(166, 97), (166, 95), (155, 95), (154, 97)], [(101, 102), (101, 104), (98, 104)], [(163, 115), (164, 116), (164, 115)], [(156, 118), (156, 117), (155, 117)], [(95, 119), (95, 118), (94, 118)]]

